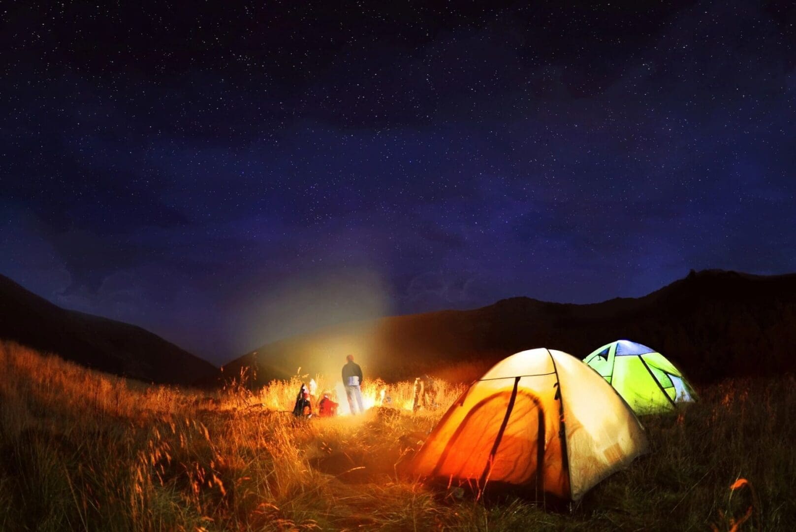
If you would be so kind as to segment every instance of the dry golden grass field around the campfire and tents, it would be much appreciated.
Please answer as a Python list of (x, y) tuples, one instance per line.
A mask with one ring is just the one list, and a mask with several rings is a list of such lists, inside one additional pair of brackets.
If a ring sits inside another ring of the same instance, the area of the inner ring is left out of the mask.
[[(413, 413), (412, 383), (366, 381), (365, 415), (297, 420), (284, 411), (298, 379), (254, 391), (239, 380), (209, 396), (11, 343), (0, 343), (0, 374), (0, 530), (796, 526), (793, 376), (724, 381), (677, 417), (642, 419), (649, 456), (552, 508), (401, 475), (417, 433), (462, 385), (439, 386), (439, 408)], [(318, 378), (318, 390), (331, 385)]]

